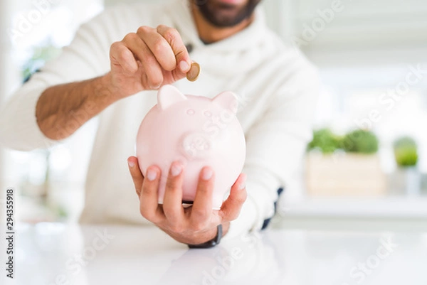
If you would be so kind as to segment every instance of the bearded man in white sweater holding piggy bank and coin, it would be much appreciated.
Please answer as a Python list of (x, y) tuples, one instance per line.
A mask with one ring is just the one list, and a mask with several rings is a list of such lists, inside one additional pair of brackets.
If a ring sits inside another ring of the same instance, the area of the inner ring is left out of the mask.
[[(11, 98), (0, 115), (2, 143), (21, 150), (51, 146), (97, 116), (81, 222), (141, 223), (142, 215), (186, 244), (214, 240), (218, 225), (222, 235), (260, 230), (310, 140), (318, 82), (312, 65), (265, 26), (255, 9), (259, 1), (107, 9)], [(196, 82), (183, 79), (192, 60), (203, 70)], [(164, 204), (157, 205), (159, 168), (151, 166), (144, 178), (132, 156), (138, 126), (165, 84), (184, 94), (231, 90), (243, 98), (238, 119), (246, 134), (246, 175), (219, 211), (210, 207), (209, 167), (201, 171), (194, 205), (184, 209), (184, 167), (172, 163)], [(130, 191), (127, 157), (139, 200)]]

